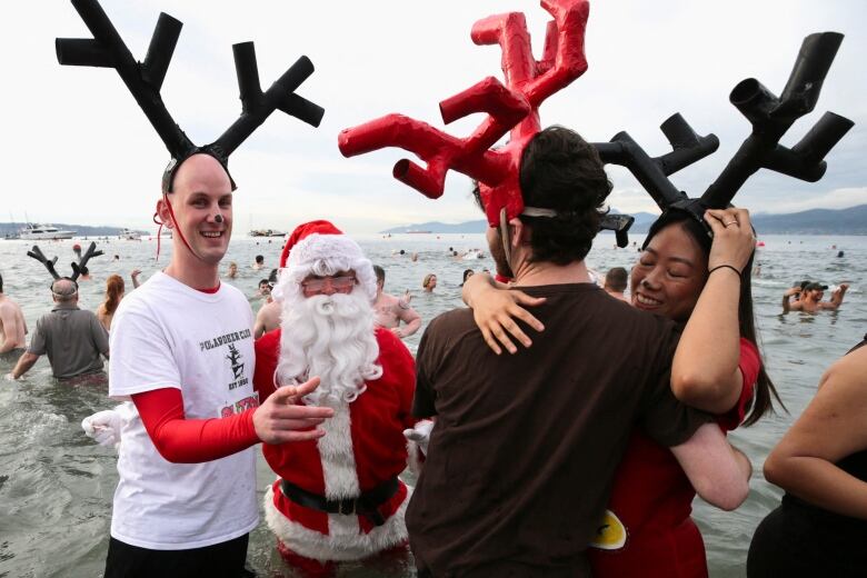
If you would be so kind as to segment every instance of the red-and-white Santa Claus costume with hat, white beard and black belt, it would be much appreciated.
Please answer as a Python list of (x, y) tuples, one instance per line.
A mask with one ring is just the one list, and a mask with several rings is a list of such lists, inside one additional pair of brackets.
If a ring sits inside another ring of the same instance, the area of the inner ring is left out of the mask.
[[(275, 298), (281, 327), (256, 342), (260, 396), (319, 376), (305, 398), (333, 408), (318, 440), (263, 452), (279, 476), (265, 496), (268, 527), (283, 559), (308, 571), (405, 548), (411, 490), (403, 430), (411, 428), (415, 362), (390, 331), (375, 329), (376, 277), (360, 247), (327, 221), (299, 226), (280, 259)], [(305, 297), (310, 276), (355, 277), (349, 295)]]

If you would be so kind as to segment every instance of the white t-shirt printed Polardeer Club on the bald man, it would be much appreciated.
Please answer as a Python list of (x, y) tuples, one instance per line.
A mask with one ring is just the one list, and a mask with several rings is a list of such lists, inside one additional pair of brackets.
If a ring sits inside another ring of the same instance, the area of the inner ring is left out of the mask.
[[(252, 375), (253, 316), (221, 283), (197, 291), (156, 273), (118, 307), (111, 325), (109, 395), (179, 388), (188, 419), (219, 418), (258, 405)], [(155, 550), (200, 548), (252, 530), (258, 521), (255, 449), (205, 464), (159, 455), (138, 412), (123, 423), (111, 536)]]

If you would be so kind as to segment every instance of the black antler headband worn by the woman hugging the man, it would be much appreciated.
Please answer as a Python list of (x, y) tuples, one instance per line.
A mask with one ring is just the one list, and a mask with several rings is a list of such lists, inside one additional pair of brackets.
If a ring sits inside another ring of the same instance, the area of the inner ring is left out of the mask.
[[(706, 209), (728, 207), (746, 180), (761, 168), (816, 182), (827, 168), (823, 159), (854, 122), (826, 112), (791, 149), (779, 144), (779, 139), (797, 119), (816, 107), (841, 41), (843, 34), (837, 32), (808, 36), (779, 98), (753, 78), (735, 87), (729, 101), (750, 121), (753, 132), (698, 199), (678, 190), (668, 176), (716, 151), (719, 140), (714, 134), (699, 137), (680, 114), (670, 117), (660, 127), (674, 148), (662, 157), (650, 158), (626, 132), (618, 133), (610, 142), (594, 146), (604, 162), (629, 169), (660, 209), (687, 211), (702, 225)], [(709, 228), (705, 228), (710, 236)]]

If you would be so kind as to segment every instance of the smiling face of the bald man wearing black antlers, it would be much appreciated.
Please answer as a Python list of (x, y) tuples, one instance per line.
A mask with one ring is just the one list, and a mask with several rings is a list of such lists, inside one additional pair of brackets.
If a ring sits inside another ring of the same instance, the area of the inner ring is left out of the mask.
[[(218, 265), (232, 232), (232, 189), (226, 170), (213, 157), (193, 155), (178, 169), (175, 192), (167, 197), (175, 212), (175, 227), (180, 229), (192, 253), (206, 263)], [(168, 221), (169, 216), (163, 220)], [(177, 237), (176, 255), (189, 255)]]

